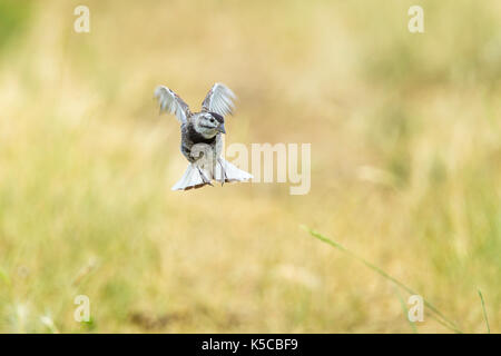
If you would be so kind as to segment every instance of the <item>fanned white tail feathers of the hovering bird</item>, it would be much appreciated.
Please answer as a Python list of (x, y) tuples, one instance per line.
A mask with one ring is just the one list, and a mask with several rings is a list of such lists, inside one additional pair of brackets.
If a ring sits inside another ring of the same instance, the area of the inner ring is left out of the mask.
[(238, 169), (227, 160), (219, 158), (216, 162), (215, 172), (208, 171), (205, 168), (200, 168), (197, 164), (190, 164), (186, 168), (181, 179), (179, 179), (173, 190), (188, 190), (202, 188), (207, 185), (212, 185), (210, 180), (219, 182), (232, 181), (248, 181), (253, 176), (242, 169)]

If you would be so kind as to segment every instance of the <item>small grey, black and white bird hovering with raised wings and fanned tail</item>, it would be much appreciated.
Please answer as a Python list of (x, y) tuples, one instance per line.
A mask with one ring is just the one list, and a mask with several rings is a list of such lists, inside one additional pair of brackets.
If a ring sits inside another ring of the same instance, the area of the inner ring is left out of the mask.
[(173, 190), (188, 190), (222, 185), (229, 181), (248, 181), (253, 176), (238, 169), (220, 157), (222, 135), (226, 134), (225, 116), (233, 113), (235, 93), (225, 85), (216, 82), (202, 103), (200, 112), (191, 112), (188, 105), (165, 86), (155, 89), (161, 111), (174, 113), (180, 122), (180, 151), (189, 161), (185, 175)]

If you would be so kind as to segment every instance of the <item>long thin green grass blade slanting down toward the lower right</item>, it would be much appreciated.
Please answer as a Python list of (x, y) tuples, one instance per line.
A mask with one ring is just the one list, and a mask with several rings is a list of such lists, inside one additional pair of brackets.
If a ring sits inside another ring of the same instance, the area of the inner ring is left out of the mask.
[[(347, 248), (345, 248), (344, 246), (342, 246), (341, 244), (337, 244), (333, 240), (331, 240), (330, 238), (323, 236), (322, 234), (308, 228), (305, 225), (301, 225), (301, 228), (303, 228), (304, 230), (306, 230), (307, 233), (310, 233), (310, 235), (312, 235), (313, 237), (320, 239), (321, 241), (331, 245), (337, 249), (340, 249), (341, 251), (350, 255), (351, 257), (353, 257), (354, 259), (357, 259), (358, 261), (363, 263), (366, 267), (371, 268), (372, 270), (374, 270), (375, 273), (377, 273), (379, 275), (381, 275), (382, 277), (386, 278), (387, 280), (392, 281), (394, 285), (399, 286), (400, 288), (402, 288), (403, 290), (405, 290), (406, 293), (411, 294), (411, 295), (416, 295), (418, 293), (415, 293), (414, 290), (412, 290), (411, 288), (409, 288), (407, 286), (405, 286), (403, 283), (401, 283), (400, 280), (395, 279), (394, 277), (390, 276), (387, 273), (385, 273), (383, 269), (381, 269), (380, 267), (371, 264), (370, 261), (367, 261), (366, 259), (355, 255), (354, 253), (352, 253), (351, 250), (348, 250)], [(426, 299), (423, 298), (424, 305), (428, 307), (428, 309), (430, 309), (432, 313), (434, 313), (438, 317), (434, 317), (433, 315), (430, 315), (432, 318), (434, 318), (436, 322), (439, 322), (441, 325), (445, 326), (446, 328), (458, 333), (458, 334), (462, 334), (462, 332), (458, 328), (458, 326), (455, 325), (455, 323), (451, 322), (449, 318), (446, 318), (439, 309), (436, 309), (430, 301), (428, 301)]]

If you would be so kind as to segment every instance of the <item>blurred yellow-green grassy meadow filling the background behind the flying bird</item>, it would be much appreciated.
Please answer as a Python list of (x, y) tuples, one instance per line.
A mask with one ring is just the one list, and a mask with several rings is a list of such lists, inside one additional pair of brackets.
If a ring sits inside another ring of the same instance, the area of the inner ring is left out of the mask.
[[(0, 1), (0, 332), (411, 333), (407, 295), (304, 224), (463, 332), (482, 290), (499, 333), (500, 23), (497, 0)], [(227, 145), (312, 144), (310, 194), (170, 191), (153, 90), (195, 110), (215, 81)]]

